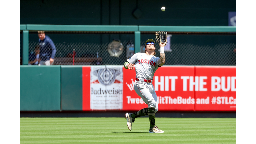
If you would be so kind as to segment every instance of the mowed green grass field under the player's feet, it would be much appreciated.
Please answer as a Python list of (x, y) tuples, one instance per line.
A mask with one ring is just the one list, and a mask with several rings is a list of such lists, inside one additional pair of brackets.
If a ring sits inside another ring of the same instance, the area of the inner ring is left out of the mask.
[(156, 118), (165, 133), (148, 133), (149, 119), (20, 118), (20, 143), (230, 144), (236, 143), (236, 118)]

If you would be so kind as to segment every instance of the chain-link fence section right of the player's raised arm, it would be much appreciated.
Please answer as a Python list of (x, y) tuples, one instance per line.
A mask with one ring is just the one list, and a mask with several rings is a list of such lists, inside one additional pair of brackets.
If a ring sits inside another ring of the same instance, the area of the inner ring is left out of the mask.
[(236, 44), (171, 44), (165, 65), (236, 65)]

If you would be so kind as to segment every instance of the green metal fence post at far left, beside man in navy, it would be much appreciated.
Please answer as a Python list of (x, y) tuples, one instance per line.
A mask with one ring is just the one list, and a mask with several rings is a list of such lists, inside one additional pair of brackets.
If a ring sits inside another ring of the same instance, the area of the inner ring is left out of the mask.
[(24, 30), (23, 33), (23, 47), (22, 47), (22, 65), (28, 65), (28, 31)]

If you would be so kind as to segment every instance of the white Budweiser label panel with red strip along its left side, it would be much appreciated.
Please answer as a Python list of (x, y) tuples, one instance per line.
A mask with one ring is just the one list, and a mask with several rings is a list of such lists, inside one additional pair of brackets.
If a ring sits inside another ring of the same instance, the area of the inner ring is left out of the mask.
[(122, 110), (122, 66), (83, 67), (83, 110)]

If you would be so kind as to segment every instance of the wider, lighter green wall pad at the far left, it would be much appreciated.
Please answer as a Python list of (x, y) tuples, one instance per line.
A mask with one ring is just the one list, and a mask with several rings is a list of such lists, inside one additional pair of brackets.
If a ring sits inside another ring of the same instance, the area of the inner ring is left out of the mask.
[(60, 66), (20, 66), (20, 111), (60, 111)]

